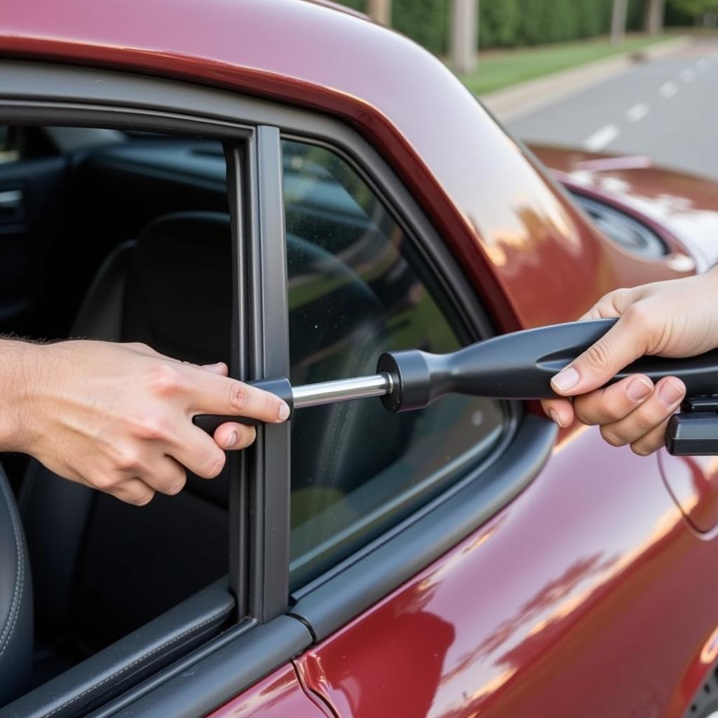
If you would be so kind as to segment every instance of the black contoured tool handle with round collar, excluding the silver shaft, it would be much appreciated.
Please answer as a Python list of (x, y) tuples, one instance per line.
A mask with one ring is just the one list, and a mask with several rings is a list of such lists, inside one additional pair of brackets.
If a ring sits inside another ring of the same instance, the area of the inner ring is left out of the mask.
[[(382, 401), (390, 411), (421, 409), (450, 393), (493, 398), (552, 398), (551, 377), (602, 337), (615, 319), (570, 322), (513, 332), (477, 342), (451, 354), (419, 350), (381, 355), (394, 390)], [(689, 395), (718, 393), (718, 350), (696, 357), (645, 356), (608, 383), (642, 373), (653, 381), (678, 376)]]

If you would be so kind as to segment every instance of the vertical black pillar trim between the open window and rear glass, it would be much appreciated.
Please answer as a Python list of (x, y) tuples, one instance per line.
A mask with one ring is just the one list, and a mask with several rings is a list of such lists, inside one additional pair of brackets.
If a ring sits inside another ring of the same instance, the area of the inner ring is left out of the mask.
[[(260, 125), (256, 138), (256, 144), (250, 146), (256, 157), (250, 163), (249, 196), (257, 203), (248, 258), (250, 373), (271, 379), (289, 376), (284, 190), (279, 130)], [(249, 611), (263, 623), (286, 612), (289, 603), (289, 437), (288, 423), (258, 426), (250, 458), (254, 570), (249, 582)]]

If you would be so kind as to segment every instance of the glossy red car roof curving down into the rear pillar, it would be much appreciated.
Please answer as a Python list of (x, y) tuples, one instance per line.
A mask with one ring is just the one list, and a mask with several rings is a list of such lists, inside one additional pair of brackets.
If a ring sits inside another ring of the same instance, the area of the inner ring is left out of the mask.
[(0, 51), (342, 118), (393, 165), (505, 330), (574, 319), (641, 276), (679, 275), (617, 250), (441, 62), (350, 13), (297, 0), (6, 0)]

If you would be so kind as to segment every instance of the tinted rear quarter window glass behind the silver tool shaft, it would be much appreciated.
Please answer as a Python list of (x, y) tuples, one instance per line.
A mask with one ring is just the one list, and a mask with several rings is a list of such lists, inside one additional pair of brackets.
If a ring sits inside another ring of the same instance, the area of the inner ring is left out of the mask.
[[(385, 350), (459, 348), (431, 273), (358, 172), (319, 146), (283, 150), (292, 383), (373, 374)], [(367, 399), (302, 409), (292, 425), (297, 587), (460, 478), (498, 439), (503, 412), (449, 397), (390, 414)]]

